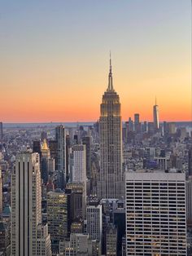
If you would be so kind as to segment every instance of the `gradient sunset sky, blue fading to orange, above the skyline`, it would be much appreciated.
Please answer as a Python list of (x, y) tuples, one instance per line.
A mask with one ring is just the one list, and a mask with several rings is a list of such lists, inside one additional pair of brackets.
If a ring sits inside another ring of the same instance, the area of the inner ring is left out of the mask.
[(95, 121), (111, 50), (122, 117), (189, 121), (190, 0), (2, 0), (0, 120)]

